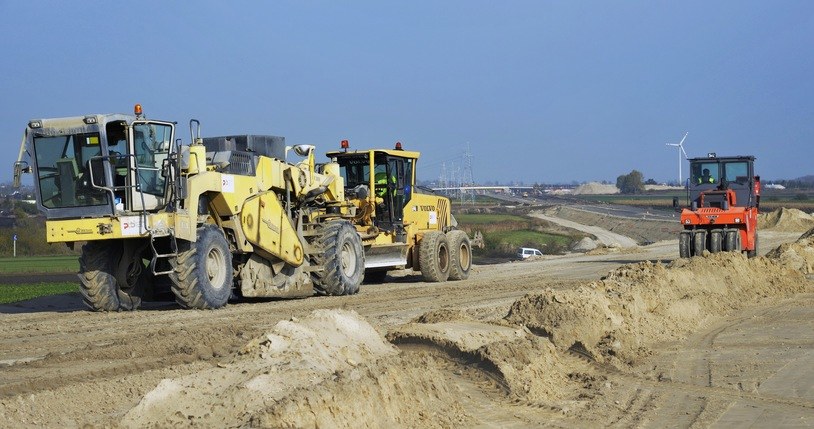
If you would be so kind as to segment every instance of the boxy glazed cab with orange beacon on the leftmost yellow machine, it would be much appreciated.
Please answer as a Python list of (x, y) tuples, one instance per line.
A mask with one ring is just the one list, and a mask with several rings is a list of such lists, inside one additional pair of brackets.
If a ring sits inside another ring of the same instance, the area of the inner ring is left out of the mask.
[(23, 144), (33, 150), (39, 209), (64, 219), (159, 208), (174, 136), (173, 123), (117, 114), (29, 122)]

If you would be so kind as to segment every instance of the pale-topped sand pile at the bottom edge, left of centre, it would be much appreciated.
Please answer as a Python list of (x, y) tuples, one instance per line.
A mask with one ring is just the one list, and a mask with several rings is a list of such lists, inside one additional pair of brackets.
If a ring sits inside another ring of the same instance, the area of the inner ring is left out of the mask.
[[(231, 362), (165, 379), (121, 422), (126, 427), (455, 426), (456, 399), (432, 365), (405, 362), (355, 312), (317, 310), (282, 321)], [(443, 407), (430, 420), (415, 409)]]

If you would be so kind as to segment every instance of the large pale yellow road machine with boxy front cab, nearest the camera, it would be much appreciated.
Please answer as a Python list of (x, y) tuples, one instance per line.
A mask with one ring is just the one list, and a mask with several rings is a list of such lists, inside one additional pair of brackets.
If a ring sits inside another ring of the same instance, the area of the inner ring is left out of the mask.
[[(50, 243), (86, 242), (80, 290), (94, 310), (133, 310), (171, 280), (184, 308), (231, 296), (346, 295), (364, 251), (337, 164), (283, 137), (176, 140), (175, 123), (105, 114), (36, 119), (14, 167), (34, 176)], [(286, 162), (289, 150), (303, 159)]]

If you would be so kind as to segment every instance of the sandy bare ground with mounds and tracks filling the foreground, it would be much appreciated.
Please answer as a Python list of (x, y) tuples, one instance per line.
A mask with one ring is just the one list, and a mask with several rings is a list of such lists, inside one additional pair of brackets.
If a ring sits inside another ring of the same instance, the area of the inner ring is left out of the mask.
[(0, 306), (11, 427), (811, 427), (814, 243), (676, 240), (217, 311)]

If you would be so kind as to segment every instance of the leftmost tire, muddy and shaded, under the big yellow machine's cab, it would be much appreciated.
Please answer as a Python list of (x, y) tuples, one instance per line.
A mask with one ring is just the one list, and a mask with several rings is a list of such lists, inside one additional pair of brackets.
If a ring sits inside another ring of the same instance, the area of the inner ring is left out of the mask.
[[(121, 241), (89, 241), (79, 257), (79, 291), (85, 305), (95, 311), (135, 310), (141, 305), (144, 286), (140, 279), (120, 285), (115, 270), (122, 257)], [(136, 257), (137, 263), (141, 262)]]

